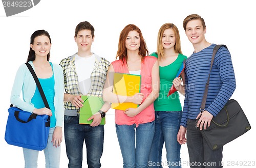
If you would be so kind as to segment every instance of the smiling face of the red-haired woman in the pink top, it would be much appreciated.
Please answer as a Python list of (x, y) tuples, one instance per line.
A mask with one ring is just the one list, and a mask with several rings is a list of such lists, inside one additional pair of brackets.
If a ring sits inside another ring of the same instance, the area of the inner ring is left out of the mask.
[(136, 51), (140, 47), (140, 35), (137, 31), (130, 31), (125, 40), (127, 50)]

